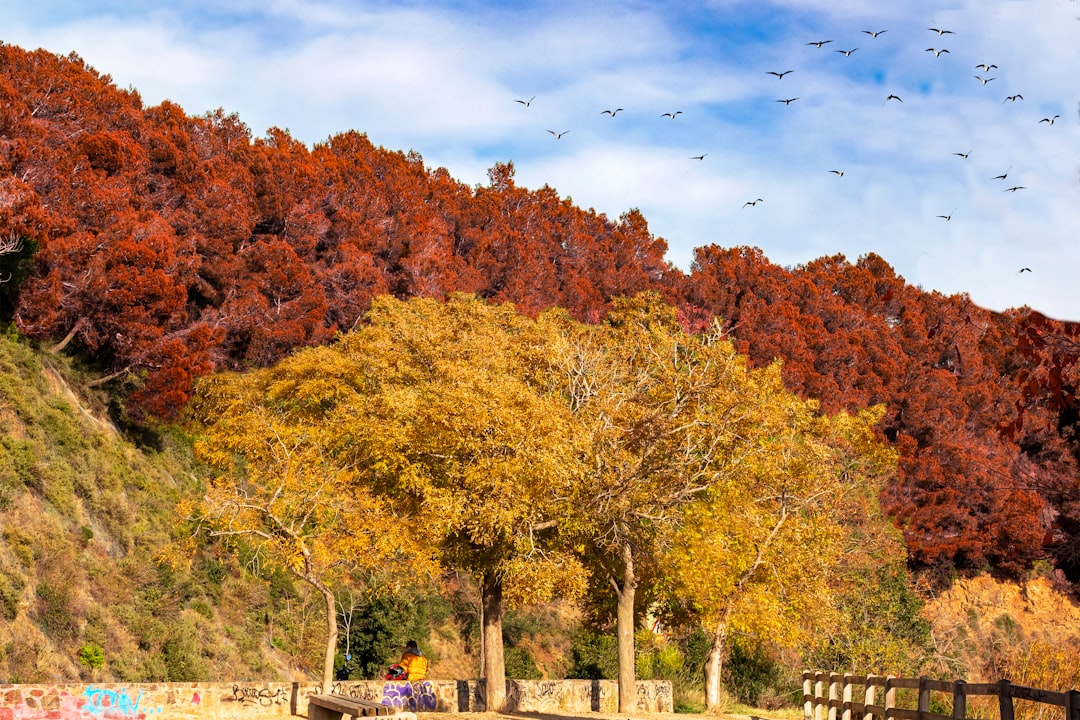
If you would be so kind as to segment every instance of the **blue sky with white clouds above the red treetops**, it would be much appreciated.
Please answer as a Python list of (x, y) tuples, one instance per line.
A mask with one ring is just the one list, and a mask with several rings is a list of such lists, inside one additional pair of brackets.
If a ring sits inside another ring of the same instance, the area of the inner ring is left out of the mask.
[(788, 268), (875, 253), (927, 291), (1080, 321), (1078, 18), (1077, 0), (33, 0), (0, 5), (0, 40), (255, 137), (355, 130), (472, 187), (512, 161), (518, 186), (639, 209), (685, 272), (714, 244)]

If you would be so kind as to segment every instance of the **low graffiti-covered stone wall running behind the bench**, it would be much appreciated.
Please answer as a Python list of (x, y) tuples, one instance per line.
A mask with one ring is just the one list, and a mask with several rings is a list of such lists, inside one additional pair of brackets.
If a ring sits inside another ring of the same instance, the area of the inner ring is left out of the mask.
[[(483, 680), (337, 682), (330, 692), (415, 712), (481, 712)], [(0, 720), (244, 720), (307, 716), (320, 683), (164, 682), (0, 684)], [(507, 710), (580, 715), (618, 710), (613, 680), (508, 680)], [(672, 687), (637, 683), (637, 714), (671, 712)]]

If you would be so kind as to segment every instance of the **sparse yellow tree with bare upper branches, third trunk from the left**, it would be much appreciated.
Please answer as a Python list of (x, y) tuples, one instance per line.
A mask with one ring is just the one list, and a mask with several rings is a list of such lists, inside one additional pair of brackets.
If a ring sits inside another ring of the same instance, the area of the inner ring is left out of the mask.
[(634, 711), (635, 599), (717, 467), (735, 463), (758, 398), (745, 361), (718, 332), (686, 334), (654, 294), (617, 300), (597, 326), (565, 323), (553, 362), (584, 466), (575, 529), (616, 596), (619, 711)]

